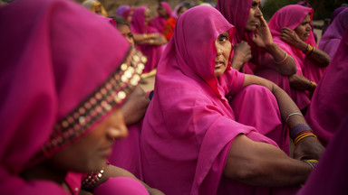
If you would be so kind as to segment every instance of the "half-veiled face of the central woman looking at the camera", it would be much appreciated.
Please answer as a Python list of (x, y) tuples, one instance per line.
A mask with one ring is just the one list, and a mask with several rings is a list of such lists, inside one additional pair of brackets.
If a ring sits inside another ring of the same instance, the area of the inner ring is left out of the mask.
[(218, 35), (218, 38), (215, 41), (215, 47), (217, 48), (217, 58), (215, 59), (214, 74), (215, 76), (220, 77), (227, 69), (228, 58), (232, 50), (228, 32)]

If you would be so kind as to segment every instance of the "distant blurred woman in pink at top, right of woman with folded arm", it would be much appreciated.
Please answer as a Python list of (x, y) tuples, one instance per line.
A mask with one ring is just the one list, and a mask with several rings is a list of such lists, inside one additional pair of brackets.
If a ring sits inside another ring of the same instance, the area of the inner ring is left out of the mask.
[(159, 7), (157, 8), (157, 13), (159, 15), (151, 20), (151, 26), (156, 28), (159, 32), (162, 32), (164, 24), (172, 16), (168, 2), (160, 2)]

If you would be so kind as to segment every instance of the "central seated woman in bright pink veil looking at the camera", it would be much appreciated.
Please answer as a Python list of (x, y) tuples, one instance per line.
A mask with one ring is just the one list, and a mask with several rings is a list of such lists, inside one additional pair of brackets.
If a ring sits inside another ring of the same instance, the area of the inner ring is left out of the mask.
[[(299, 187), (324, 147), (295, 103), (274, 83), (230, 69), (235, 28), (215, 8), (193, 7), (177, 27), (161, 57), (140, 135), (144, 180), (166, 194), (269, 194), (284, 190), (272, 187)], [(297, 160), (255, 127), (237, 122), (226, 96), (244, 87), (275, 95)], [(305, 133), (298, 125), (306, 126)]]

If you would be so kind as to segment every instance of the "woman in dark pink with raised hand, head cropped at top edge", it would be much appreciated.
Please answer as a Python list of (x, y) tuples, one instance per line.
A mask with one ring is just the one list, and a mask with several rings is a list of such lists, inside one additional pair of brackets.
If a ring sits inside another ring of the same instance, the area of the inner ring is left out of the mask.
[(238, 43), (231, 66), (273, 81), (303, 110), (310, 99), (304, 91), (290, 88), (288, 79), (296, 73), (295, 60), (273, 40), (260, 6), (261, 0), (218, 0), (217, 9), (237, 27)]

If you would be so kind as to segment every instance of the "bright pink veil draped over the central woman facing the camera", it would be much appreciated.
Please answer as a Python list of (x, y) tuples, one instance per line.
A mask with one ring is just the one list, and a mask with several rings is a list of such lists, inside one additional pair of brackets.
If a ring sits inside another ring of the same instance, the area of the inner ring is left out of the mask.
[(229, 190), (225, 194), (255, 190), (237, 181), (220, 183), (237, 135), (275, 144), (235, 121), (225, 96), (242, 88), (244, 74), (228, 67), (228, 74), (214, 75), (215, 41), (222, 32), (233, 39), (235, 28), (204, 5), (189, 9), (176, 25), (160, 59), (140, 135), (144, 180), (166, 194), (217, 194), (221, 185)]

